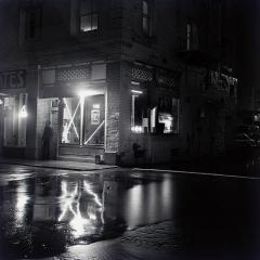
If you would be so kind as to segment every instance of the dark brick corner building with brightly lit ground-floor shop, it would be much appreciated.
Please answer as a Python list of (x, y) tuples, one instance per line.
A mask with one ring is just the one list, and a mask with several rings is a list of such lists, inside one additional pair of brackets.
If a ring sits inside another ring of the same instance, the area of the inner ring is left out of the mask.
[(1, 154), (41, 158), (47, 120), (51, 158), (224, 153), (236, 106), (232, 4), (1, 1)]

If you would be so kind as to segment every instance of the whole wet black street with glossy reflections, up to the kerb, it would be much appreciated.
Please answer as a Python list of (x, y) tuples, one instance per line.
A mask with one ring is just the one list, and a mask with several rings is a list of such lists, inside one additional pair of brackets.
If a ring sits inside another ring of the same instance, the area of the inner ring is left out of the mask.
[(165, 221), (184, 259), (260, 257), (258, 178), (0, 165), (0, 202), (1, 260), (53, 257)]

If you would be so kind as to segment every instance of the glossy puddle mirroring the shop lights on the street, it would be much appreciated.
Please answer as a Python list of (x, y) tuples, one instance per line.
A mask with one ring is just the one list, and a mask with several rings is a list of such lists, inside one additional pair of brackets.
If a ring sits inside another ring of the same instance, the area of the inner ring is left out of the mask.
[(0, 199), (2, 250), (23, 258), (54, 256), (69, 245), (170, 219), (172, 182), (139, 173), (121, 178), (17, 169), (1, 172)]

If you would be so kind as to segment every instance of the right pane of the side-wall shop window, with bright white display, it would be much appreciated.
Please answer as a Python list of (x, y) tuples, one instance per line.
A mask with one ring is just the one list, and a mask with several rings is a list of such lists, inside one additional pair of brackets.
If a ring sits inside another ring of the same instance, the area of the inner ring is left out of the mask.
[(179, 132), (179, 99), (168, 96), (159, 98), (157, 132)]

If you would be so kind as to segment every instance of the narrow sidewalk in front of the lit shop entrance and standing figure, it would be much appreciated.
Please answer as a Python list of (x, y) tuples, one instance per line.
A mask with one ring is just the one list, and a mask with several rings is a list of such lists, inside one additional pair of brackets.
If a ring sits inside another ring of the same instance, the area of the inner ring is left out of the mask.
[(11, 159), (0, 158), (0, 164), (30, 166), (39, 168), (50, 168), (57, 170), (75, 170), (75, 171), (93, 171), (116, 168), (109, 165), (95, 165), (84, 161), (67, 161), (67, 160), (27, 160), (27, 159)]

